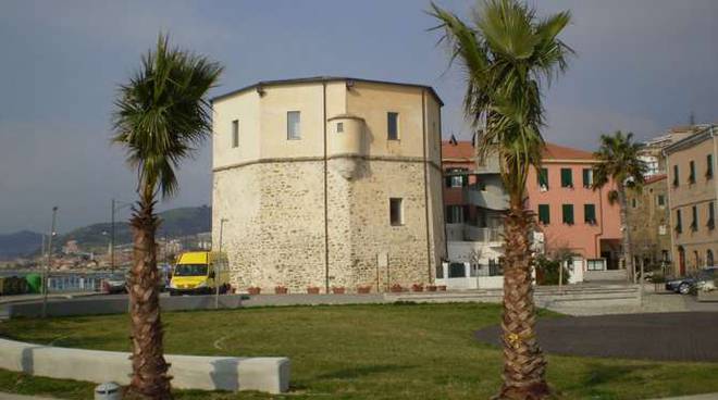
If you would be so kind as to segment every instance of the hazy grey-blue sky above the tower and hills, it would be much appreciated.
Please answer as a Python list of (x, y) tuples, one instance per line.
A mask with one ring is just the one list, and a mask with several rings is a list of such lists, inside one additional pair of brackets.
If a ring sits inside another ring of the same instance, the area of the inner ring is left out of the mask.
[[(475, 1), (437, 0), (471, 18)], [(545, 90), (547, 140), (594, 150), (603, 133), (640, 139), (718, 122), (718, 1), (541, 0), (540, 15), (570, 10), (561, 38), (575, 50)], [(446, 105), (443, 132), (471, 133), (463, 75), (436, 46), (436, 22), (416, 0), (0, 2), (0, 234), (58, 230), (110, 220), (132, 201), (135, 174), (110, 146), (117, 85), (160, 30), (225, 66), (211, 96), (258, 80), (341, 75), (430, 85)], [(160, 209), (209, 204), (208, 141), (178, 172)], [(119, 217), (127, 216), (127, 211)]]

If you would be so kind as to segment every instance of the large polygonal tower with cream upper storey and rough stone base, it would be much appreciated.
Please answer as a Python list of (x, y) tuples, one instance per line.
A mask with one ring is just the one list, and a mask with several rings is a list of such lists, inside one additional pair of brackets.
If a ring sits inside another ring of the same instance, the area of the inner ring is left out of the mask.
[(384, 291), (433, 282), (446, 242), (443, 103), (431, 87), (317, 77), (212, 103), (212, 242), (233, 285)]

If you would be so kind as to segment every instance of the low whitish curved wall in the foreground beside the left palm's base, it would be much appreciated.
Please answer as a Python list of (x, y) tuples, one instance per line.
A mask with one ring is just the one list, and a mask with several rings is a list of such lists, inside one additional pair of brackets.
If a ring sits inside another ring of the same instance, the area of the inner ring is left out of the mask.
[[(289, 389), (289, 359), (165, 355), (172, 386), (178, 389), (259, 390), (281, 393)], [(129, 353), (67, 349), (0, 339), (0, 368), (51, 378), (94, 383), (129, 383)]]

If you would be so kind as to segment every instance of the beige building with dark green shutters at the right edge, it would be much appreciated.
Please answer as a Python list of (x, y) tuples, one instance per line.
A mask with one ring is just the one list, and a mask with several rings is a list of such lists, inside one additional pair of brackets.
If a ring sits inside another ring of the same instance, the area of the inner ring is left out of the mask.
[(718, 250), (716, 134), (716, 126), (705, 126), (664, 150), (668, 167), (671, 252), (677, 275), (715, 265)]

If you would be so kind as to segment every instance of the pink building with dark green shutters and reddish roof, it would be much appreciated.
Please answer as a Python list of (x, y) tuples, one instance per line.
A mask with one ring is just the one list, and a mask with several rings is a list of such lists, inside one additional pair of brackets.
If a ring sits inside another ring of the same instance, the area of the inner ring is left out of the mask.
[(618, 270), (619, 207), (608, 202), (612, 183), (591, 189), (594, 164), (591, 152), (547, 143), (542, 168), (530, 172), (528, 207), (536, 213), (546, 252), (568, 248), (584, 271)]

